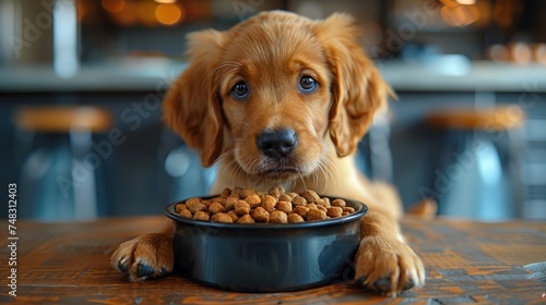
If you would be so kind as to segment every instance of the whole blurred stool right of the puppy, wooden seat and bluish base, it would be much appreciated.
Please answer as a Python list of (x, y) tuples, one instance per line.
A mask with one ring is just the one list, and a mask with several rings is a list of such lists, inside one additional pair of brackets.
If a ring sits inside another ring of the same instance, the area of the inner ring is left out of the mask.
[(439, 215), (480, 221), (519, 217), (524, 202), (521, 107), (442, 110), (425, 121), (441, 130), (443, 141), (430, 180)]

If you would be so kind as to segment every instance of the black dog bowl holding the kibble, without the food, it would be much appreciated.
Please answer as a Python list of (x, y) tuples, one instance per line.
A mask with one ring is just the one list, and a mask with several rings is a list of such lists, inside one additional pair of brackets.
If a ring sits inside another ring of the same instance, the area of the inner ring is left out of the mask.
[(368, 209), (361, 203), (345, 202), (354, 213), (282, 224), (193, 220), (179, 216), (179, 203), (174, 203), (165, 213), (175, 223), (175, 271), (234, 291), (295, 291), (329, 284), (347, 272), (360, 240), (359, 220)]

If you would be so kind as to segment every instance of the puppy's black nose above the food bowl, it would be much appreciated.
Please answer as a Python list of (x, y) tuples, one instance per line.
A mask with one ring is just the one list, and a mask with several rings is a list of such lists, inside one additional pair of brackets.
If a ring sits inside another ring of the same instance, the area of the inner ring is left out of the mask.
[(277, 130), (258, 135), (257, 144), (265, 156), (280, 160), (292, 154), (298, 139), (293, 130)]

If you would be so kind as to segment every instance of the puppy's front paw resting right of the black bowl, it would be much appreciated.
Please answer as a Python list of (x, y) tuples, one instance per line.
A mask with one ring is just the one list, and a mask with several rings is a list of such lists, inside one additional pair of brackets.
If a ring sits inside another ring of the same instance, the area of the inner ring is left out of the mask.
[(408, 245), (384, 236), (360, 241), (355, 269), (355, 279), (359, 283), (389, 296), (425, 284), (420, 258)]

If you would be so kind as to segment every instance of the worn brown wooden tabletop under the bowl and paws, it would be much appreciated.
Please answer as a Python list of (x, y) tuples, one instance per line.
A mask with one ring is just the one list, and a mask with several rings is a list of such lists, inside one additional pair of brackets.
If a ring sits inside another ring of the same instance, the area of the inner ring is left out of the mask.
[[(397, 298), (347, 282), (285, 293), (237, 293), (180, 276), (130, 283), (109, 266), (114, 248), (155, 231), (162, 217), (87, 223), (17, 221), (16, 297), (10, 296), (13, 242), (1, 235), (0, 303), (21, 304), (545, 304), (546, 223), (475, 223), (406, 219), (408, 242), (427, 268), (427, 284)], [(2, 223), (7, 223), (2, 220)]]

